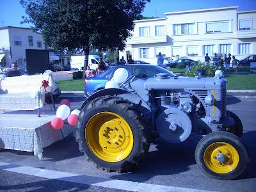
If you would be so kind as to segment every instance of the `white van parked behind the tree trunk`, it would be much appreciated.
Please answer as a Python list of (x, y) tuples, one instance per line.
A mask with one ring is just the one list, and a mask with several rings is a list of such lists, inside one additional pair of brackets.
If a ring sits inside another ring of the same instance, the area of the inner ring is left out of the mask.
[[(98, 63), (99, 63), (100, 57), (93, 54), (89, 55), (89, 60), (88, 60), (88, 65), (90, 69), (97, 69)], [(83, 70), (84, 67), (84, 61), (85, 61), (85, 56), (84, 55), (76, 55), (76, 56), (71, 56), (70, 58), (70, 65), (71, 68), (77, 68), (78, 70)], [(104, 61), (106, 67), (108, 67), (108, 63)]]

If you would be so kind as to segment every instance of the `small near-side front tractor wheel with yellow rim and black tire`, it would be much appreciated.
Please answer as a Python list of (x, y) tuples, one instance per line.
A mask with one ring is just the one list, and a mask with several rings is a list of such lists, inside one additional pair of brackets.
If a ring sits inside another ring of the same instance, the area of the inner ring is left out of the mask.
[(248, 163), (244, 143), (230, 132), (212, 132), (199, 141), (195, 150), (196, 163), (213, 179), (235, 179)]

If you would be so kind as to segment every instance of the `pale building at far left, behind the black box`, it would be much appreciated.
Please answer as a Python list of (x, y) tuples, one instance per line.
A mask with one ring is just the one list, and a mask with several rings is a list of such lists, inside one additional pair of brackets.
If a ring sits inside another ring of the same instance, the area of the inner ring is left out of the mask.
[(17, 61), (19, 67), (26, 67), (26, 49), (45, 49), (42, 34), (29, 28), (0, 28), (2, 67), (10, 67), (13, 61)]

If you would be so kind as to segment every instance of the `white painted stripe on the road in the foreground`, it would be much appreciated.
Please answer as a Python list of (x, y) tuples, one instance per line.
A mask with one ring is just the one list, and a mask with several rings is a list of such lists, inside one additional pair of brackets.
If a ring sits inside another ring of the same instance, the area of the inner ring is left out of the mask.
[(207, 190), (192, 189), (192, 188), (179, 188), (173, 186), (161, 186), (155, 184), (147, 184), (143, 182), (133, 182), (129, 180), (118, 180), (118, 179), (108, 179), (102, 177), (93, 177), (88, 175), (79, 175), (67, 172), (58, 172), (52, 170), (44, 170), (40, 168), (34, 168), (31, 166), (20, 166), (16, 164), (3, 163), (0, 162), (0, 170), (5, 170), (8, 172), (22, 173), (26, 175), (33, 175), (36, 177), (43, 177), (46, 179), (58, 179), (68, 182), (76, 182), (79, 184), (86, 184), (92, 186), (101, 186), (104, 188), (121, 189), (127, 191), (181, 191), (181, 192), (201, 192)]

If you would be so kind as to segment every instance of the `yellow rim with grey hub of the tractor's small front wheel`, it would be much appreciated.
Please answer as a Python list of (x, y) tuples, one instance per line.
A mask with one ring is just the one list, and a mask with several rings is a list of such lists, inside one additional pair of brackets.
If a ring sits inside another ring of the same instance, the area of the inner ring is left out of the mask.
[(204, 162), (212, 172), (225, 174), (236, 169), (239, 163), (239, 154), (236, 148), (228, 143), (212, 143), (205, 150)]

